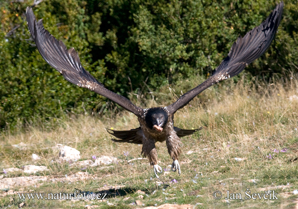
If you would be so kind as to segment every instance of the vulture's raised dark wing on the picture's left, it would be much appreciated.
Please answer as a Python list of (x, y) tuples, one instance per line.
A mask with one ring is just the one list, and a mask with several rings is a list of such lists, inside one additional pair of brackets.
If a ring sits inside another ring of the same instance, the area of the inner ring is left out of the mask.
[(119, 104), (137, 116), (143, 115), (144, 110), (132, 104), (127, 98), (106, 89), (80, 63), (74, 48), (67, 50), (62, 41), (58, 41), (49, 31), (45, 30), (42, 20), (36, 21), (32, 8), (26, 10), (29, 31), (42, 57), (52, 67), (58, 70), (69, 82), (96, 92)]

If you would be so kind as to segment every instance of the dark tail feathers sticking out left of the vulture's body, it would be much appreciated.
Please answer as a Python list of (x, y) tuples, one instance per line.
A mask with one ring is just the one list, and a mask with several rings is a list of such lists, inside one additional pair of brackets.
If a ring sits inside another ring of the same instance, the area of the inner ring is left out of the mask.
[(126, 142), (126, 143), (133, 143), (133, 144), (143, 144), (143, 131), (141, 127), (126, 130), (126, 131), (115, 131), (112, 129), (106, 129), (109, 134), (112, 134), (117, 139), (112, 139), (113, 142)]

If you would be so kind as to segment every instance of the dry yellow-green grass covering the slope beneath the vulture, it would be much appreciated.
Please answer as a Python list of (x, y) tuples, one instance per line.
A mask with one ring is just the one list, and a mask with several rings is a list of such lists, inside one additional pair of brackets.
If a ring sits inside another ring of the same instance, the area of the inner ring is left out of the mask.
[[(180, 176), (170, 171), (161, 174), (161, 180), (155, 179), (147, 160), (128, 162), (141, 157), (140, 145), (110, 140), (112, 137), (105, 128), (125, 130), (139, 127), (137, 118), (127, 111), (100, 119), (89, 115), (52, 118), (42, 125), (30, 125), (26, 131), (19, 129), (13, 133), (1, 133), (0, 170), (21, 168), (27, 164), (45, 165), (49, 171), (34, 175), (47, 176), (49, 181), (0, 191), (0, 208), (17, 209), (22, 202), (26, 203), (25, 208), (53, 209), (79, 209), (86, 205), (131, 209), (165, 203), (192, 204), (200, 209), (296, 207), (297, 195), (293, 195), (293, 191), (298, 189), (298, 79), (289, 79), (284, 85), (277, 82), (266, 86), (244, 81), (245, 77), (237, 84), (227, 80), (211, 87), (175, 114), (177, 127), (203, 126), (201, 131), (182, 138)], [(171, 87), (171, 91), (161, 89), (160, 93), (153, 93), (155, 100), (147, 103), (154, 106), (168, 104), (162, 101), (174, 102), (181, 91), (186, 92), (184, 88), (198, 83), (191, 80)], [(12, 146), (20, 142), (27, 144), (25, 150)], [(79, 150), (80, 160), (111, 156), (117, 157), (119, 162), (105, 169), (100, 169), (100, 166), (72, 167), (70, 162), (59, 160), (57, 152), (51, 148), (56, 144)], [(169, 168), (167, 166), (172, 161), (165, 143), (157, 143), (156, 147), (159, 165)], [(124, 155), (127, 152), (128, 155)], [(33, 161), (33, 153), (41, 158)], [(64, 177), (77, 172), (88, 174), (88, 178), (68, 181)], [(23, 172), (3, 175), (5, 178), (30, 176)], [(118, 189), (109, 190), (114, 195), (107, 201), (21, 201), (16, 194), (7, 195), (7, 190), (74, 193), (79, 189), (98, 192), (108, 190), (108, 186)], [(246, 188), (251, 193), (274, 190), (278, 193), (278, 200), (245, 200)], [(138, 190), (146, 193), (143, 200), (138, 197)], [(221, 200), (213, 198), (216, 190), (223, 192)], [(242, 200), (224, 200), (227, 190), (241, 193)], [(137, 200), (142, 202), (141, 206), (136, 206)]]

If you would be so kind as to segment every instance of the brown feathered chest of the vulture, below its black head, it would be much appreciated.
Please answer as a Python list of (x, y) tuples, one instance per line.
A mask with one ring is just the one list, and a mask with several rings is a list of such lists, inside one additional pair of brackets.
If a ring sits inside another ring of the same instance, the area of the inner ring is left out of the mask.
[(154, 140), (155, 142), (165, 141), (172, 133), (172, 131), (174, 131), (173, 120), (171, 118), (168, 119), (166, 125), (164, 126), (161, 132), (149, 128), (146, 124), (146, 121), (143, 118), (139, 118), (139, 122), (145, 137), (147, 139)]

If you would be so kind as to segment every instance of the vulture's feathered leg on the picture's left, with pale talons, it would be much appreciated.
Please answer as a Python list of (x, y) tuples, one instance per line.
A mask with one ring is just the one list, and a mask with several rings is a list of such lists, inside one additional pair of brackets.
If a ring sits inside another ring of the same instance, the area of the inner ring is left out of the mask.
[(148, 157), (150, 165), (153, 165), (154, 174), (159, 179), (157, 173), (162, 173), (161, 167), (157, 164), (157, 151), (153, 140), (144, 139), (142, 153), (144, 157)]

